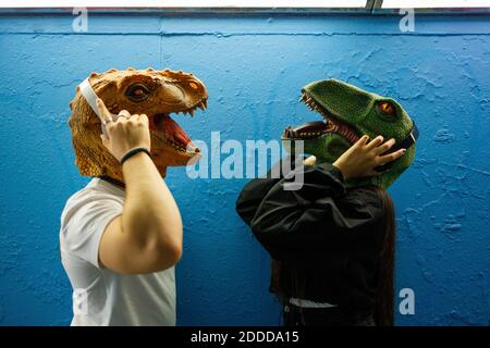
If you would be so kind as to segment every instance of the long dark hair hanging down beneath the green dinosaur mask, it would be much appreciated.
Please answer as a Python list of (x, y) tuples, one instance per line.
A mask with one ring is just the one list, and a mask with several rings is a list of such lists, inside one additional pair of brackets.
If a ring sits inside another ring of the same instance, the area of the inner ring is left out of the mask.
[[(378, 186), (369, 187), (378, 195), (384, 210), (384, 234), (377, 270), (377, 297), (375, 304), (375, 322), (378, 326), (393, 325), (394, 311), (394, 254), (395, 223), (394, 206), (388, 191)], [(301, 269), (292, 263), (272, 260), (271, 291), (286, 304), (291, 293), (302, 298), (305, 293), (306, 279), (301, 276)]]

